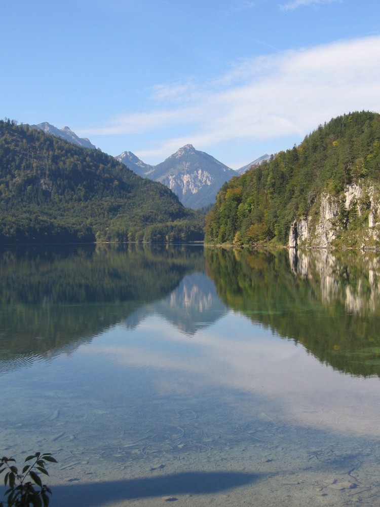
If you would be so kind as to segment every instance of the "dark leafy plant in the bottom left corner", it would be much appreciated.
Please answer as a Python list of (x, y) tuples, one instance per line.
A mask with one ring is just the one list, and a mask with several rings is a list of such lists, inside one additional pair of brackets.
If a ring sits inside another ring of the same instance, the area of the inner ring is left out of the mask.
[[(46, 469), (46, 462), (56, 463), (56, 459), (50, 453), (41, 454), (36, 452), (25, 459), (22, 472), (13, 464), (16, 462), (13, 458), (3, 456), (0, 460), (0, 474), (5, 472), (4, 485), (8, 486), (5, 492), (7, 496), (7, 505), (11, 507), (48, 507), (51, 490), (42, 484), (41, 477), (37, 471), (44, 475), (49, 475)], [(0, 507), (4, 507), (0, 502)]]

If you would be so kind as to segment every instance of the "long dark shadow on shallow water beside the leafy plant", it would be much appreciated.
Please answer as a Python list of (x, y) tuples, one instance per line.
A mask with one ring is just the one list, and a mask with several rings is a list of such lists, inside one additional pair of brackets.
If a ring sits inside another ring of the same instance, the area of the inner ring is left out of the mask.
[(54, 501), (56, 507), (79, 504), (95, 507), (133, 498), (217, 493), (253, 483), (260, 476), (245, 472), (186, 472), (125, 481), (58, 485), (52, 487), (52, 503)]

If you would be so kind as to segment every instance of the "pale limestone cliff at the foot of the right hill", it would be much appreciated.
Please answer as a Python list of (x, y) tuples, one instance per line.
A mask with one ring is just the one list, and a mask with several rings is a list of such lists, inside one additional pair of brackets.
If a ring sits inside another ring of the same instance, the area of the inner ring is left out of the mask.
[(380, 192), (374, 185), (346, 185), (333, 196), (322, 192), (308, 216), (295, 220), (288, 245), (295, 247), (356, 247), (380, 245)]

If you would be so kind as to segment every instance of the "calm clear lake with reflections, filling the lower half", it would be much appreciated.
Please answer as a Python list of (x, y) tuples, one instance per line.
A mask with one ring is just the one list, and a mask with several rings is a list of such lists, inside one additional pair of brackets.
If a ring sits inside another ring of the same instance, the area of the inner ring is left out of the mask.
[(0, 452), (53, 507), (380, 503), (375, 253), (3, 247), (0, 302)]

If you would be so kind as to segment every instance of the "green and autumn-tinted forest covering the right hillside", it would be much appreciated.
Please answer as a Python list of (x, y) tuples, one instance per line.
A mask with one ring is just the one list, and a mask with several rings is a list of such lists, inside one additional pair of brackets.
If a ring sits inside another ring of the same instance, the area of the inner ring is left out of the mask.
[[(299, 146), (225, 183), (206, 218), (206, 241), (287, 244), (297, 220), (305, 220), (312, 241), (310, 231), (318, 227), (325, 195), (335, 206), (328, 216), (335, 228), (331, 241), (343, 244), (350, 233), (355, 245), (355, 231), (368, 222), (370, 208), (374, 217), (378, 213), (379, 201), (374, 201), (379, 169), (380, 115), (339, 116), (320, 125)], [(357, 186), (351, 207), (346, 206), (350, 186)], [(374, 242), (376, 237), (371, 236)]]

